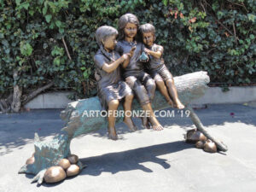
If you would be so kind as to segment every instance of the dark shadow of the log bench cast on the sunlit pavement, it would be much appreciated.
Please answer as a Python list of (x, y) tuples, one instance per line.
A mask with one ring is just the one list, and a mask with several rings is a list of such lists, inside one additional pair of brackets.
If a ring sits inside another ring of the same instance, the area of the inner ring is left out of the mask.
[(159, 164), (165, 169), (171, 167), (169, 162), (157, 156), (171, 154), (184, 149), (194, 148), (194, 145), (177, 141), (172, 143), (163, 143), (145, 148), (136, 148), (118, 153), (102, 154), (95, 157), (79, 159), (86, 167), (80, 175), (98, 176), (102, 172), (125, 172), (131, 170), (141, 170), (143, 172), (153, 172), (146, 166), (141, 165), (143, 162), (153, 162)]

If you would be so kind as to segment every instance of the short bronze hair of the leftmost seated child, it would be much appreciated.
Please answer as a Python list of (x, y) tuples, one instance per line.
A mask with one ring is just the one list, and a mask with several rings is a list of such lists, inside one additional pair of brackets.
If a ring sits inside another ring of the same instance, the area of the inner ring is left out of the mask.
[(119, 32), (113, 28), (113, 26), (100, 26), (97, 28), (95, 37), (96, 37), (96, 42), (99, 46), (102, 45), (102, 41), (106, 41), (106, 39), (110, 36), (117, 36)]

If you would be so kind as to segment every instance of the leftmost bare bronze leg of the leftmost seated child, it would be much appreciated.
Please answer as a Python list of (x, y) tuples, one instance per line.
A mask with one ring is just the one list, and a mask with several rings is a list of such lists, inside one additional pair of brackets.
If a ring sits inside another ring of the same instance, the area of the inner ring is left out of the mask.
[(117, 110), (119, 107), (119, 101), (118, 100), (112, 100), (108, 103), (108, 138), (117, 140), (118, 136), (115, 131), (115, 117), (114, 117), (114, 111)]

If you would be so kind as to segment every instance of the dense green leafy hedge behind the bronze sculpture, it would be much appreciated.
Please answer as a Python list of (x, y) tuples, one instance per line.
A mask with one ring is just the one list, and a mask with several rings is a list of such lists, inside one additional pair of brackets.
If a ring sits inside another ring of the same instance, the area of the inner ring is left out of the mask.
[[(93, 55), (98, 26), (117, 27), (131, 12), (156, 26), (156, 43), (174, 75), (205, 70), (212, 82), (255, 80), (254, 0), (0, 0), (0, 96), (49, 81), (79, 97), (96, 94)], [(62, 38), (72, 60), (67, 56)], [(19, 78), (13, 79), (18, 71)]]

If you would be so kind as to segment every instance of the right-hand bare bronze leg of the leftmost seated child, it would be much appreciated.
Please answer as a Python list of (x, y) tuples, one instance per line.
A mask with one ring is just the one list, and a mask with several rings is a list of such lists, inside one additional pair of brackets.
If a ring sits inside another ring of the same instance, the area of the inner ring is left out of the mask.
[(133, 95), (125, 96), (124, 110), (125, 110), (125, 118), (124, 122), (129, 127), (130, 131), (137, 131), (136, 125), (134, 125), (130, 116), (126, 116), (126, 112), (131, 112), (131, 102), (133, 99)]

